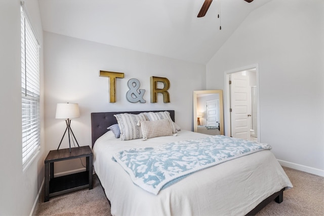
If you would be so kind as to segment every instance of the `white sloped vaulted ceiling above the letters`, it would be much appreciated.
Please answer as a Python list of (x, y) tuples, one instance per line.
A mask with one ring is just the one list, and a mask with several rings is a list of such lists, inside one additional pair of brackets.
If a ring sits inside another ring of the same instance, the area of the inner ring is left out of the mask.
[(253, 10), (271, 0), (214, 0), (201, 18), (204, 0), (38, 1), (44, 31), (206, 64)]

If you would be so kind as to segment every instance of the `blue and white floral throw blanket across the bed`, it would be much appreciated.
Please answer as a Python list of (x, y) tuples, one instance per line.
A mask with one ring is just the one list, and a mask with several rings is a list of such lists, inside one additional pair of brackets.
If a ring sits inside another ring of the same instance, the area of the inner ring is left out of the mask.
[(271, 146), (225, 136), (186, 140), (157, 147), (120, 151), (113, 155), (134, 184), (155, 195), (195, 171)]

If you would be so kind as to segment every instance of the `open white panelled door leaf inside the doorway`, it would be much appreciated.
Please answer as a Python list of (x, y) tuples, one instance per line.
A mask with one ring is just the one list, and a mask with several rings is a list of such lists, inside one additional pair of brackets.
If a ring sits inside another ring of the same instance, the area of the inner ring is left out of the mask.
[(249, 78), (241, 72), (230, 74), (231, 136), (250, 140)]

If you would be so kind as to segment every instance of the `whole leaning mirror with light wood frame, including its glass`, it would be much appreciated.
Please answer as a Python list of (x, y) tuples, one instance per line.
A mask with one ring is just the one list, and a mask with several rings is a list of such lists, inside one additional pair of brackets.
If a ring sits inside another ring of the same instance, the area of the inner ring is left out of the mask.
[(193, 131), (224, 135), (223, 91), (193, 92)]

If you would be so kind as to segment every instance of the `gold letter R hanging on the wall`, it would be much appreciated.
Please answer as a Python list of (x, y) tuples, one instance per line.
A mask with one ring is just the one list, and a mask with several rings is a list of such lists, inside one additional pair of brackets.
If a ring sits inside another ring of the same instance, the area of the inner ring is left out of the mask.
[[(165, 77), (156, 77), (151, 76), (150, 78), (150, 85), (151, 85), (151, 103), (157, 102), (157, 93), (163, 94), (163, 102), (170, 103), (170, 95), (167, 90), (170, 89), (170, 81)], [(162, 82), (164, 84), (163, 89), (157, 89), (157, 82)]]

